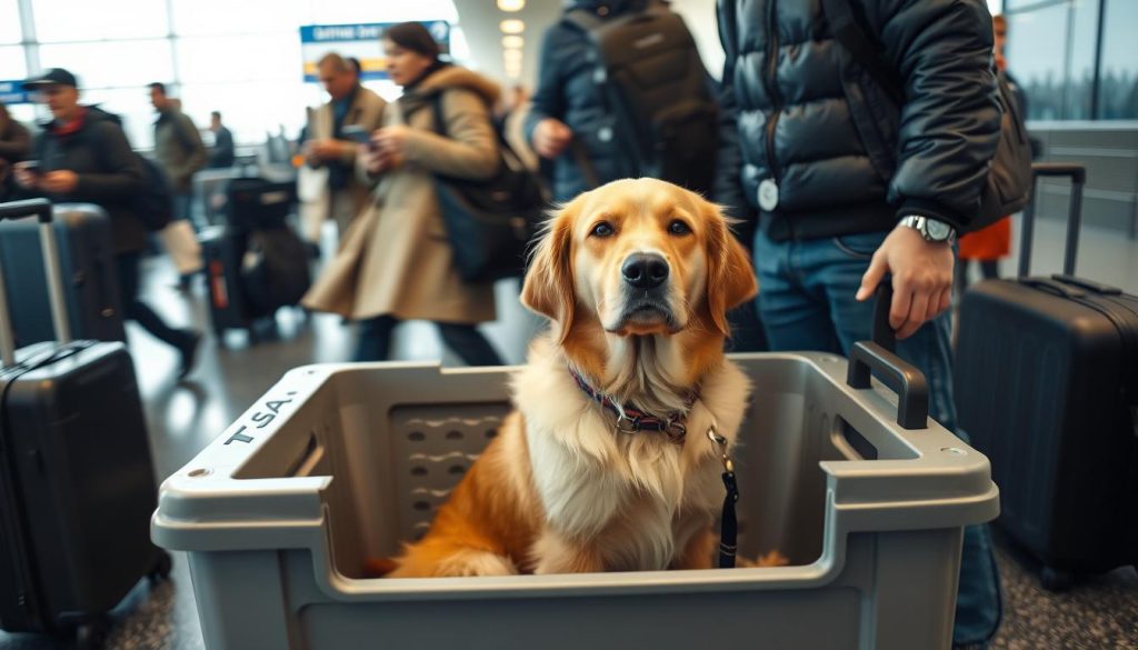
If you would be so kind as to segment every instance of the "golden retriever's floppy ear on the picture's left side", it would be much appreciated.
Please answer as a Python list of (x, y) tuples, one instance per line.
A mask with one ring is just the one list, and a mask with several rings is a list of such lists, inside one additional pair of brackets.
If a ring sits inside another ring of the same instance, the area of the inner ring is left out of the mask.
[(526, 283), (521, 288), (521, 304), (553, 321), (553, 337), (558, 343), (564, 343), (569, 336), (577, 302), (569, 260), (572, 209), (570, 204), (550, 220), (545, 236), (530, 258)]

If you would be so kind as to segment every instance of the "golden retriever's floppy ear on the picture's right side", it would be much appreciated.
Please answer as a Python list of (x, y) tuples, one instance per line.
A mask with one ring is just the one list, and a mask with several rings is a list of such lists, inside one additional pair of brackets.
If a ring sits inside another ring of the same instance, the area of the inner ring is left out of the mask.
[(704, 206), (708, 230), (708, 310), (723, 336), (731, 336), (727, 311), (754, 297), (759, 290), (750, 256), (727, 229), (727, 220), (714, 204)]

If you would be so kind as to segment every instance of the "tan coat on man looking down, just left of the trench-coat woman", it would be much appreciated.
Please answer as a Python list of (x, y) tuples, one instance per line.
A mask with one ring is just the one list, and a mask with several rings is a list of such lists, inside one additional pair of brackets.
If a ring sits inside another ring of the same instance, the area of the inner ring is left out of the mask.
[[(348, 113), (344, 117), (344, 125), (362, 126), (371, 133), (382, 124), (386, 106), (387, 102), (382, 97), (366, 88), (360, 87), (356, 90), (355, 99), (352, 101), (352, 107), (348, 108)], [(312, 114), (308, 121), (308, 139), (321, 140), (332, 138), (336, 132), (335, 120), (332, 102), (329, 101), (322, 105)], [(346, 140), (346, 142), (348, 146), (340, 162), (348, 167), (355, 167), (361, 145), (349, 140)], [(327, 174), (323, 178), (327, 179)], [(340, 235), (343, 236), (343, 229), (347, 228), (352, 217), (363, 209), (368, 203), (370, 192), (370, 183), (349, 178), (346, 188), (337, 191), (328, 189), (318, 197), (306, 200), (305, 205), (302, 206), (306, 238), (312, 241), (319, 241), (320, 227), (329, 219), (335, 220), (340, 225)]]

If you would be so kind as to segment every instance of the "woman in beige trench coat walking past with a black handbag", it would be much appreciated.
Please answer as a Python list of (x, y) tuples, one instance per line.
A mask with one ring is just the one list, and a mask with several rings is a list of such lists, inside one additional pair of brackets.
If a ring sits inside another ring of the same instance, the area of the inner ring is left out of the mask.
[[(488, 179), (497, 171), (490, 124), (497, 85), (440, 61), (438, 44), (419, 23), (388, 28), (384, 51), (404, 94), (388, 105), (384, 127), (362, 156), (361, 173), (377, 182), (372, 201), (303, 303), (361, 321), (356, 361), (387, 359), (395, 326), (421, 319), (435, 321), (447, 347), (468, 364), (500, 365), (475, 327), (496, 318), (494, 287), (459, 275), (435, 196), (436, 173)], [(447, 135), (436, 130), (437, 100)]]

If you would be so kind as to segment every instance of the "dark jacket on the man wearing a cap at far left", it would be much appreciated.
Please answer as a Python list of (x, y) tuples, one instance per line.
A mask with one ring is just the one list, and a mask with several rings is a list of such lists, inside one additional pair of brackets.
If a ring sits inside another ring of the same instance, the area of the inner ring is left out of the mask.
[(131, 207), (145, 187), (146, 175), (115, 116), (88, 108), (83, 126), (67, 135), (57, 134), (48, 124), (36, 137), (34, 150), (44, 172), (69, 170), (79, 175), (75, 191), (48, 198), (56, 203), (93, 203), (107, 211), (116, 253), (146, 248), (146, 227)]

